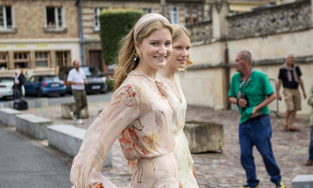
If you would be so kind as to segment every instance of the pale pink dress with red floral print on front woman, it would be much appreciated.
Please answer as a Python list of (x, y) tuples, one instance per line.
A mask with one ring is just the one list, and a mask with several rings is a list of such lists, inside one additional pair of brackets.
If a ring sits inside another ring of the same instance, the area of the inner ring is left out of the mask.
[(70, 180), (76, 188), (94, 188), (116, 138), (125, 159), (138, 161), (130, 188), (178, 188), (173, 154), (172, 106), (162, 82), (133, 70), (84, 136), (73, 160)]

